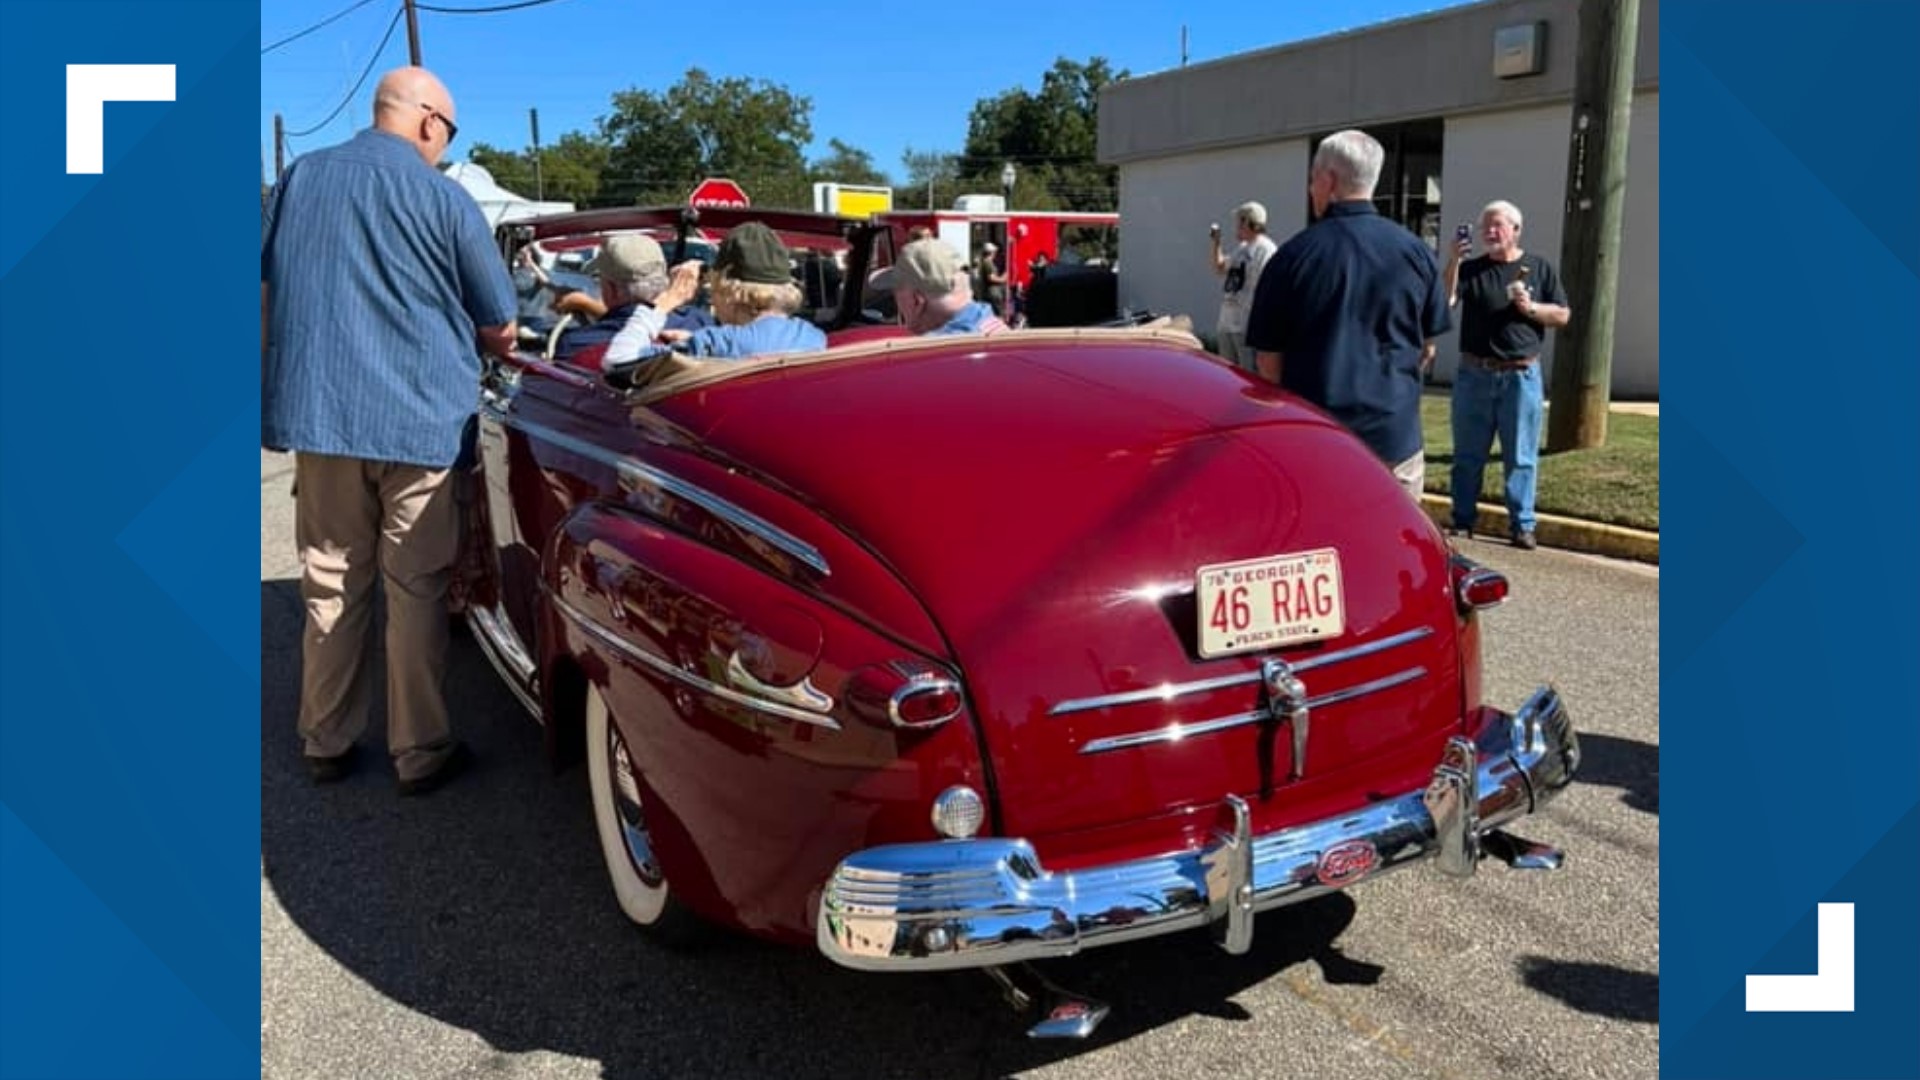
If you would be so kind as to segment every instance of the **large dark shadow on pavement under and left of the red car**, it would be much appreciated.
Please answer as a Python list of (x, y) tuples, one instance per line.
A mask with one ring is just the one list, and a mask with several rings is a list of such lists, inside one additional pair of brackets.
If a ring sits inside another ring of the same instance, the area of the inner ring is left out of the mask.
[[(292, 922), (263, 911), (278, 926), (263, 936), (267, 1011), (309, 1009), (296, 980), (315, 970), (311, 942), (374, 992), (361, 1007), (386, 1009), (384, 997), (497, 1051), (593, 1059), (611, 1078), (945, 1076), (1031, 1068), (1192, 1015), (1252, 1020), (1233, 997), (1306, 961), (1336, 984), (1382, 972), (1340, 955), (1356, 907), (1332, 894), (1261, 915), (1240, 957), (1188, 932), (1050, 963), (1050, 978), (1114, 1015), (1087, 1042), (1031, 1042), (979, 972), (864, 974), (730, 934), (666, 949), (614, 905), (586, 771), (549, 771), (540, 726), (467, 634), (449, 650), (447, 700), (478, 755), (468, 776), (397, 798), (376, 684), (361, 769), (313, 786), (294, 734), (300, 630), (298, 582), (261, 582), (261, 869)], [(351, 1032), (344, 1007), (313, 1007), (324, 1015), (294, 1030)], [(301, 1047), (271, 1043), (282, 1030), (263, 1034), (263, 1051), (278, 1055), (276, 1074), (301, 1074), (284, 1065)], [(380, 1061), (378, 1047), (357, 1053)]]

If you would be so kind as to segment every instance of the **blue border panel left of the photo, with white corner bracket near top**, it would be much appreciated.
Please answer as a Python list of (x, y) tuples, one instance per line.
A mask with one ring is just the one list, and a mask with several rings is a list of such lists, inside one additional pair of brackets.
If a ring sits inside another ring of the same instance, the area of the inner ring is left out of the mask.
[[(259, 1074), (259, 8), (8, 0), (0, 1074)], [(65, 65), (173, 63), (65, 173)]]

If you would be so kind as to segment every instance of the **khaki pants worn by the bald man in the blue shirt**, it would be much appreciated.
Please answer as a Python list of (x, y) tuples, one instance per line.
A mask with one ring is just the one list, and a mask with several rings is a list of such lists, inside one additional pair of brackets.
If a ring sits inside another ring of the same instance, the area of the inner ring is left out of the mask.
[(403, 780), (453, 749), (444, 694), (447, 580), (459, 507), (447, 469), (300, 454), (294, 540), (301, 640), (300, 734), (309, 757), (346, 753), (367, 728), (372, 578), (386, 592), (386, 744)]

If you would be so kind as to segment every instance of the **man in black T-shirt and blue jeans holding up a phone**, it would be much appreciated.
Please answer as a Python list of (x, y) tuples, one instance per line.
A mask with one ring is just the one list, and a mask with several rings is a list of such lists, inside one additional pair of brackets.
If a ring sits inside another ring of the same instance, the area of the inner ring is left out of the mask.
[(1507, 528), (1515, 548), (1534, 550), (1534, 469), (1546, 392), (1540, 346), (1546, 331), (1572, 317), (1559, 273), (1521, 250), (1521, 209), (1498, 200), (1480, 211), (1480, 242), (1467, 258), (1473, 229), (1459, 227), (1446, 263), (1448, 304), (1459, 304), (1459, 371), (1453, 375), (1453, 527), (1473, 536), (1480, 475), (1500, 436), (1507, 480)]

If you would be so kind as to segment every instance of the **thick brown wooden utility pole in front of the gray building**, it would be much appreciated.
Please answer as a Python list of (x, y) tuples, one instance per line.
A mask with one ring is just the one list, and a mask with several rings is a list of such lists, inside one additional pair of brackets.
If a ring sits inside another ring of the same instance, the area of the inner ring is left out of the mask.
[(1567, 233), (1561, 269), (1572, 321), (1559, 331), (1548, 452), (1607, 442), (1613, 388), (1613, 315), (1626, 213), (1626, 127), (1634, 111), (1640, 0), (1580, 0), (1572, 146), (1567, 158)]

